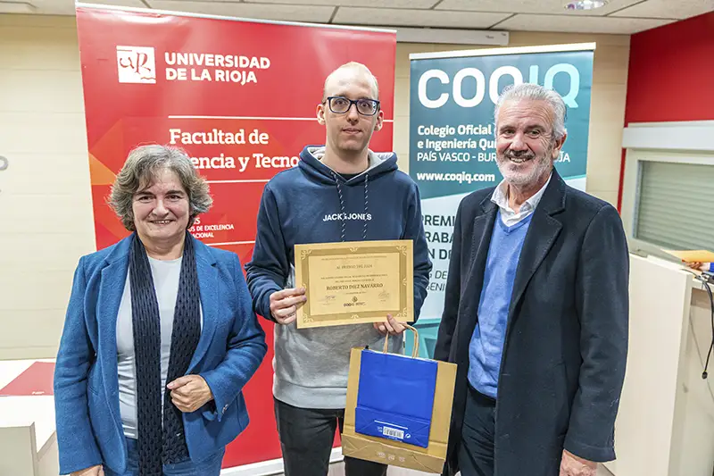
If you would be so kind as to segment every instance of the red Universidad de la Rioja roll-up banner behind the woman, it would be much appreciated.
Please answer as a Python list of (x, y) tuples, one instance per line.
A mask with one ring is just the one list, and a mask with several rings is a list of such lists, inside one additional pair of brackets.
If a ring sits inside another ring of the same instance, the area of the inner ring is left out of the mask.
[[(129, 150), (183, 147), (209, 180), (212, 209), (191, 232), (211, 246), (253, 254), (262, 189), (323, 144), (315, 117), (328, 74), (366, 64), (379, 81), (385, 127), (375, 151), (392, 150), (393, 31), (251, 21), (78, 4), (77, 26), (97, 249), (129, 234), (106, 205)], [(228, 446), (224, 467), (280, 457), (269, 352), (245, 388), (251, 424)]]

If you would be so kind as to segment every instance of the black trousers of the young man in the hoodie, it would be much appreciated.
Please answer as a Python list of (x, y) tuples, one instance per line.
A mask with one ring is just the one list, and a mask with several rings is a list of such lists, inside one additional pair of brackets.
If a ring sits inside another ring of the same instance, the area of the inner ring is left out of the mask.
[[(335, 430), (342, 434), (345, 410), (297, 408), (275, 400), (275, 420), (286, 476), (326, 476)], [(386, 476), (386, 464), (345, 456), (346, 476)]]

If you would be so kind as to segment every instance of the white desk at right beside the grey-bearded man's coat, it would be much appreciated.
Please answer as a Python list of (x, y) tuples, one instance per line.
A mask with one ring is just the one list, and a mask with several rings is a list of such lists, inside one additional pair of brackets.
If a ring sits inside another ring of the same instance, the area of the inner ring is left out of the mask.
[(630, 255), (627, 374), (615, 425), (615, 476), (711, 476), (714, 358), (710, 299), (681, 266)]

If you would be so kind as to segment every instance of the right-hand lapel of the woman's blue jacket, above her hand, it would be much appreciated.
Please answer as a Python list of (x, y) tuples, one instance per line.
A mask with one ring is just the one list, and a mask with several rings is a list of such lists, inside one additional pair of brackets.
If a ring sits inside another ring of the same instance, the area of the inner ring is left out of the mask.
[(188, 372), (195, 371), (195, 367), (203, 359), (203, 355), (208, 351), (213, 340), (213, 333), (216, 330), (216, 320), (218, 319), (218, 269), (216, 260), (211, 254), (208, 246), (195, 238), (195, 266), (198, 274), (198, 287), (201, 293), (201, 309), (203, 311), (203, 328), (198, 346), (195, 348), (194, 357), (188, 366)]

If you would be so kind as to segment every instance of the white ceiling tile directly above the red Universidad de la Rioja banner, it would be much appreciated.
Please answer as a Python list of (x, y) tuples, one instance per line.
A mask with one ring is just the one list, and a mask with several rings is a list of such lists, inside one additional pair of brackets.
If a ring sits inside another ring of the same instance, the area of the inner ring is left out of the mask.
[(311, 21), (326, 23), (335, 10), (331, 6), (291, 4), (243, 4), (227, 2), (184, 2), (179, 0), (148, 0), (153, 8), (174, 12), (224, 15), (256, 20)]

